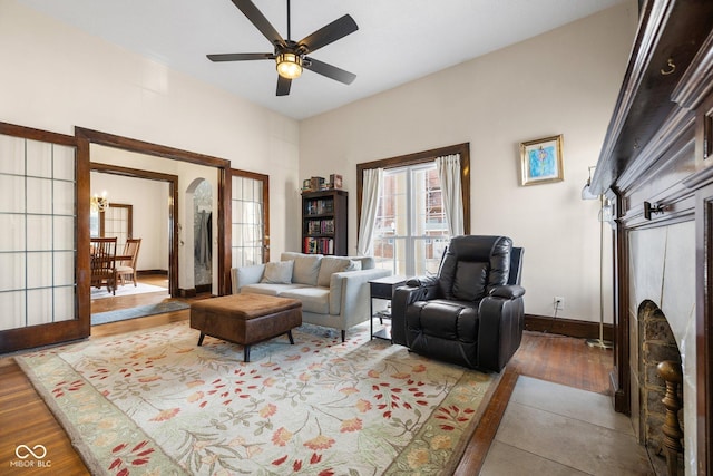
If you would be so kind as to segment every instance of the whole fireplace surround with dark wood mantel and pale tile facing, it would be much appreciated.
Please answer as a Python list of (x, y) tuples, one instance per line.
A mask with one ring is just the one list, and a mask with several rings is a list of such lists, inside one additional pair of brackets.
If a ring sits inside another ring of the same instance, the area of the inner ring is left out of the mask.
[[(639, 11), (592, 181), (616, 206), (614, 406), (637, 418), (636, 311), (656, 298), (642, 295), (656, 289), (651, 282), (661, 283), (660, 300), (684, 297), (657, 304), (668, 305), (676, 340), (686, 343), (685, 470), (713, 474), (713, 336), (705, 332), (713, 328), (713, 2), (642, 0)], [(664, 289), (676, 281), (693, 289)]]

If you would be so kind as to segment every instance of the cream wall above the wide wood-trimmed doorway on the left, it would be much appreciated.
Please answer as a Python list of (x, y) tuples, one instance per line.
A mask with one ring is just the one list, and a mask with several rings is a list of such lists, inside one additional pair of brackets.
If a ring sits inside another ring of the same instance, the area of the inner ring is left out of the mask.
[(268, 174), (271, 247), (285, 250), (285, 191), (299, 187), (296, 120), (13, 0), (0, 0), (0, 120), (69, 135), (80, 126)]

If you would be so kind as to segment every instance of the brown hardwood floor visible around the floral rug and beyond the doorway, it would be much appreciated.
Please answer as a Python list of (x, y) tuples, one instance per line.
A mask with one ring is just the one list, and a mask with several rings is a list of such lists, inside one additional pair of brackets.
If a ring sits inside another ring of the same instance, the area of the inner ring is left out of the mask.
[[(165, 280), (165, 276), (163, 279)], [(141, 278), (144, 282), (157, 283), (152, 280), (152, 278)], [(207, 297), (199, 295), (195, 299)], [(100, 304), (97, 304), (98, 301), (92, 303), (92, 311), (102, 312), (110, 309), (149, 304), (166, 299), (163, 293), (108, 298), (98, 300), (105, 301)], [(187, 319), (188, 310), (183, 310), (97, 326), (92, 328), (90, 339)], [(583, 339), (526, 331), (519, 350), (501, 377), (500, 386), (492, 397), (489, 411), (481, 419), (481, 425), (468, 444), (455, 474), (475, 475), (480, 470), (519, 375), (606, 394), (611, 367), (611, 350), (589, 348)], [(49, 473), (50, 470), (62, 475), (89, 474), (61, 426), (37, 395), (12, 356), (0, 356), (0, 381), (2, 381), (0, 386), (0, 468), (2, 468), (2, 474), (27, 475), (30, 468), (10, 466), (11, 462), (18, 460), (14, 449), (18, 445), (31, 447), (38, 443), (47, 447), (48, 457), (46, 460), (51, 462), (51, 467), (39, 470), (36, 468), (37, 473), (33, 474)]]

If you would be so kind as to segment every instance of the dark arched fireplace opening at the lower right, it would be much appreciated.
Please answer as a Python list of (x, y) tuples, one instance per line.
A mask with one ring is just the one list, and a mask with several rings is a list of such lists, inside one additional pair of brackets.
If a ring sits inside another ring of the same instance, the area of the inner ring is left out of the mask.
[[(681, 369), (681, 350), (676, 343), (666, 315), (653, 301), (646, 300), (638, 307), (638, 351), (639, 351), (639, 435), (646, 446), (656, 475), (684, 474), (683, 453), (675, 456), (674, 468), (667, 466), (666, 454), (671, 450), (665, 441), (664, 424), (677, 415), (677, 425), (683, 431), (683, 386), (670, 383), (668, 391), (677, 396), (681, 408), (666, 419), (666, 406), (662, 401), (666, 397), (666, 381), (662, 378), (658, 365), (671, 362)], [(670, 366), (671, 367), (671, 366)], [(671, 397), (671, 395), (670, 395)], [(671, 398), (670, 398), (671, 400)], [(671, 412), (671, 409), (668, 409)], [(668, 430), (671, 431), (671, 430)], [(683, 436), (683, 434), (682, 434)], [(683, 445), (681, 437), (680, 445)], [(675, 454), (674, 451), (673, 454)], [(673, 473), (670, 473), (672, 472)]]

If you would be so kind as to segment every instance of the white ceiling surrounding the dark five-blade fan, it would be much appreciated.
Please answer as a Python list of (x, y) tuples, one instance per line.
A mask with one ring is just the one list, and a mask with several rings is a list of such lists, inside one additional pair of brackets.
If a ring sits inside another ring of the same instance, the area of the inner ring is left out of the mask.
[[(626, 0), (293, 0), (292, 39), (351, 14), (359, 30), (312, 56), (354, 72), (312, 71), (276, 97), (274, 62), (206, 54), (271, 52), (229, 0), (19, 0), (46, 14), (286, 116), (303, 119), (512, 45)], [(253, 0), (286, 38), (286, 0)]]

